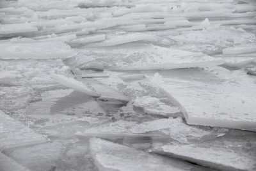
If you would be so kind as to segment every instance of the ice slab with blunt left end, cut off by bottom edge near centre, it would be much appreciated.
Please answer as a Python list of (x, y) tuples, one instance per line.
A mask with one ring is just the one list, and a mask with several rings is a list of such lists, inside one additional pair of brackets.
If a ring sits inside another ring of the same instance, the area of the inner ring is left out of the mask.
[[(97, 168), (102, 170), (201, 170), (186, 162), (148, 154), (99, 138), (90, 139), (90, 152)], [(206, 169), (207, 170), (207, 169)]]

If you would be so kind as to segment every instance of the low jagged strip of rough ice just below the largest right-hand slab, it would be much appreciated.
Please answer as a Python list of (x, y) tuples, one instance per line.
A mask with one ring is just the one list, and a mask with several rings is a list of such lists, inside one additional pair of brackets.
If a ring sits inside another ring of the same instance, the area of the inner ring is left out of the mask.
[(214, 131), (210, 129), (188, 126), (181, 118), (156, 119), (137, 123), (132, 121), (116, 121), (77, 132), (81, 139), (85, 137), (100, 137), (108, 139), (117, 138), (164, 138), (175, 142), (188, 144), (189, 142), (202, 142), (218, 137), (225, 130)]

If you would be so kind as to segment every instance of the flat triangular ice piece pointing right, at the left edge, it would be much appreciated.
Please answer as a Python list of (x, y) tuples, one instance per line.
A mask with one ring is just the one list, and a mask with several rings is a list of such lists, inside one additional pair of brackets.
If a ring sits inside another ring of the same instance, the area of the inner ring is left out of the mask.
[(19, 121), (15, 121), (9, 115), (1, 112), (1, 110), (0, 118), (0, 149), (38, 144), (46, 141), (42, 135), (35, 133), (35, 131)]

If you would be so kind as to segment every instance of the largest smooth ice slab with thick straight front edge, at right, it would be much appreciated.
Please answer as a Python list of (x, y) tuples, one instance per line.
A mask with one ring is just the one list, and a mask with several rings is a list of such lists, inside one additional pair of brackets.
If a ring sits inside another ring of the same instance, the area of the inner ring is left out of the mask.
[(162, 83), (157, 82), (188, 124), (256, 131), (254, 78), (220, 67), (196, 74), (197, 78), (165, 75)]

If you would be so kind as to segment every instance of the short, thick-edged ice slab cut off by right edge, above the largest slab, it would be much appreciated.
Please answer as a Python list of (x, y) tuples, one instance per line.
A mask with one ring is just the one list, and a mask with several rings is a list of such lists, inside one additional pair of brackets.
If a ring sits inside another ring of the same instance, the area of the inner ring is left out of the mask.
[(244, 54), (256, 52), (256, 44), (238, 45), (234, 47), (223, 48), (222, 53), (225, 55)]

